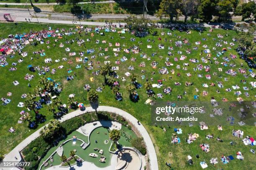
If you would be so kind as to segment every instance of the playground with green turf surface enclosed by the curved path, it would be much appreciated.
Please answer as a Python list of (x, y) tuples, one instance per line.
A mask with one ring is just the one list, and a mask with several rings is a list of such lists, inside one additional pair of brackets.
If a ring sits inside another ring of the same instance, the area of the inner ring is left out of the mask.
[[(109, 122), (110, 121), (104, 121), (104, 123)], [(115, 125), (116, 124), (117, 122), (115, 122)], [(62, 155), (65, 155), (67, 158), (70, 158), (71, 150), (74, 150), (79, 158), (86, 162), (93, 163), (98, 168), (108, 167), (111, 165), (111, 163), (115, 163), (115, 165), (112, 166), (116, 166), (117, 156), (109, 152), (110, 146), (112, 145), (112, 141), (109, 140), (109, 133), (111, 127), (102, 127), (102, 125), (99, 123), (96, 125), (96, 122), (88, 123), (87, 127), (90, 127), (90, 125), (94, 127), (94, 129), (91, 128), (92, 131), (90, 132), (90, 134), (88, 134), (90, 138), (90, 143), (88, 141), (87, 134), (81, 133), (80, 130), (74, 131), (73, 133), (68, 135), (66, 139), (59, 141), (59, 144), (57, 146), (51, 148), (47, 152), (46, 156), (41, 160), (39, 164), (41, 166), (41, 170), (46, 170), (49, 167), (54, 166), (59, 167), (61, 165), (61, 157), (59, 156), (59, 154), (61, 154), (62, 152)], [(136, 134), (132, 130), (129, 130), (127, 127), (123, 125), (120, 128), (120, 132), (121, 137), (120, 140), (118, 140), (118, 143), (120, 143), (122, 147), (131, 147), (131, 139), (136, 138)], [(85, 149), (81, 147), (83, 142), (87, 143), (87, 147)], [(61, 147), (62, 149), (59, 149)], [(52, 155), (53, 153), (54, 155)], [(93, 154), (95, 154), (95, 156), (92, 156)], [(100, 162), (101, 156), (105, 157), (104, 162)], [(80, 165), (84, 165), (84, 163), (82, 162)]]

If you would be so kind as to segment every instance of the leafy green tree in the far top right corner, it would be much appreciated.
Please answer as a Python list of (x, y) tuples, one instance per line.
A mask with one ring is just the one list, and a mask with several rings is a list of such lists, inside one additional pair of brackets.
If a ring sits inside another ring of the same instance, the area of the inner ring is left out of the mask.
[(242, 5), (241, 13), (242, 20), (256, 21), (256, 3), (254, 1), (244, 3)]

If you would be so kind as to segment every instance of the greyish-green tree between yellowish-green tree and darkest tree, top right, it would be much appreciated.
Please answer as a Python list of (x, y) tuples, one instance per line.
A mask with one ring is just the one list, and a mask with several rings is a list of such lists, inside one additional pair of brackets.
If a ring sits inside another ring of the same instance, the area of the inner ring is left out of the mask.
[(197, 13), (199, 0), (181, 0), (180, 2), (181, 2), (180, 9), (182, 14), (185, 17), (184, 22), (187, 23), (187, 18)]

